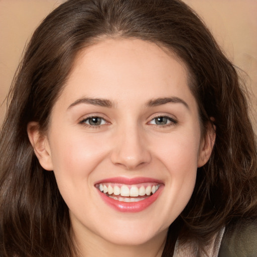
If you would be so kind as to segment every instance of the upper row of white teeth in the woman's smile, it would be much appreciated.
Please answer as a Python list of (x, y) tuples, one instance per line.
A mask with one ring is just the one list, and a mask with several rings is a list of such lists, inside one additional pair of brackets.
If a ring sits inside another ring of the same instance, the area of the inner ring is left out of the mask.
[(127, 185), (109, 185), (109, 184), (99, 184), (98, 189), (108, 195), (120, 195), (120, 196), (144, 196), (154, 194), (160, 185), (148, 185), (148, 186), (127, 186)]

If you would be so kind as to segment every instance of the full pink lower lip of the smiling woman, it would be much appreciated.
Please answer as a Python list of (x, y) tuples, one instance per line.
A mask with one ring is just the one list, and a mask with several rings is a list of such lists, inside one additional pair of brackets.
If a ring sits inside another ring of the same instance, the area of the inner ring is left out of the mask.
[(159, 197), (161, 191), (162, 191), (162, 186), (151, 196), (148, 198), (141, 200), (139, 202), (121, 202), (114, 200), (104, 193), (100, 192), (98, 189), (97, 191), (99, 192), (101, 198), (103, 201), (108, 204), (110, 207), (114, 208), (117, 211), (120, 212), (140, 212), (145, 210), (147, 207), (149, 207), (152, 203), (155, 202), (155, 200)]

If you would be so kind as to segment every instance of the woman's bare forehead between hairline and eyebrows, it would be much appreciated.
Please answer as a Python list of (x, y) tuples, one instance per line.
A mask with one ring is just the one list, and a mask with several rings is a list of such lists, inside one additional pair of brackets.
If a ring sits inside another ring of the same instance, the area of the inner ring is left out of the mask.
[[(79, 52), (64, 88), (66, 97), (136, 100), (192, 96), (188, 71), (171, 51), (138, 39), (105, 39)], [(155, 97), (155, 98), (156, 98)]]

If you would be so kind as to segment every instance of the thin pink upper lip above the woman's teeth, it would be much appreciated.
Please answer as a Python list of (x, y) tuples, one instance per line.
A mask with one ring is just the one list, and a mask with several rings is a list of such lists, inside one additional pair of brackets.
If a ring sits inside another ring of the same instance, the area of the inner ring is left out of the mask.
[(137, 178), (113, 177), (113, 178), (106, 178), (106, 179), (99, 180), (95, 183), (95, 185), (101, 184), (101, 183), (135, 185), (135, 184), (147, 183), (147, 182), (163, 184), (163, 182), (159, 179), (147, 178), (147, 177), (137, 177)]

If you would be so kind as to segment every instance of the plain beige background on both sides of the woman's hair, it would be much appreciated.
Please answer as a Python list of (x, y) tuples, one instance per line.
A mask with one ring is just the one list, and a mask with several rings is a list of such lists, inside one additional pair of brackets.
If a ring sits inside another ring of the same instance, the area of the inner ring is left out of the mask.
[[(147, 0), (146, 0), (147, 1)], [(0, 0), (0, 124), (24, 46), (61, 0)], [(252, 116), (257, 110), (257, 0), (184, 0), (204, 19), (234, 64), (247, 72)], [(253, 120), (257, 131), (256, 120)]]

